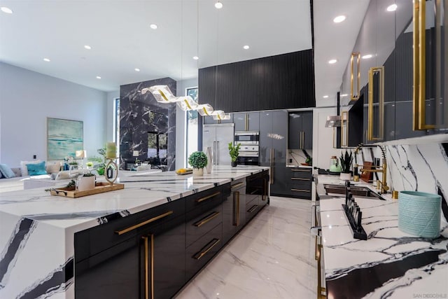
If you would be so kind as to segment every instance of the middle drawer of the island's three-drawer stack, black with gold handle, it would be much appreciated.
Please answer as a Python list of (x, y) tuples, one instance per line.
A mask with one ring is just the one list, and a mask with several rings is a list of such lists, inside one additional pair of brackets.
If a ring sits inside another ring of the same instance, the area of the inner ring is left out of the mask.
[(223, 205), (221, 203), (212, 207), (212, 209), (202, 211), (202, 214), (197, 215), (197, 211), (202, 211), (202, 209), (198, 207), (188, 212), (186, 216), (186, 246), (190, 246), (216, 225), (223, 222)]

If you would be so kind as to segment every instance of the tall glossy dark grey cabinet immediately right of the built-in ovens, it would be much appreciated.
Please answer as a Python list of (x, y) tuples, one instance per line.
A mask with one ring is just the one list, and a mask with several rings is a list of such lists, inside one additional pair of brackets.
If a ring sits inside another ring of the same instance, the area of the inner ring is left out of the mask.
[(260, 112), (260, 165), (270, 167), (272, 195), (286, 195), (288, 112)]

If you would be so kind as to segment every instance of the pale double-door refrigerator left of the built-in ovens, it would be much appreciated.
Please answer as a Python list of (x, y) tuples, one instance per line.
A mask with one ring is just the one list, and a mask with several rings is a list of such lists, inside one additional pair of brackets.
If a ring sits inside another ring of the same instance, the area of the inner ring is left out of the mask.
[(202, 127), (202, 151), (207, 152), (211, 148), (213, 165), (229, 165), (229, 142), (233, 143), (234, 124), (225, 123), (219, 125), (203, 125)]

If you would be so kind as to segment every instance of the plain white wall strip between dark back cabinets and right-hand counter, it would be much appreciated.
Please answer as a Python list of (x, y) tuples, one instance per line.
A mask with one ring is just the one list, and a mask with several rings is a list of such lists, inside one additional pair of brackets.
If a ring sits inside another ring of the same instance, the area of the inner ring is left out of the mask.
[(325, 127), (327, 116), (336, 115), (336, 107), (313, 110), (313, 166), (323, 169), (330, 167), (330, 157), (339, 157), (340, 151), (333, 148), (333, 129)]

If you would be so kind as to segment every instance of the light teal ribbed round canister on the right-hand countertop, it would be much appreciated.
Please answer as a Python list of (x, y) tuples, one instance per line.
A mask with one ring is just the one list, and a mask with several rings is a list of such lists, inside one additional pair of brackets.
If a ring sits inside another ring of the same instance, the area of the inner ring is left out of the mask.
[(442, 197), (433, 193), (398, 193), (398, 228), (402, 232), (426, 238), (440, 236)]

